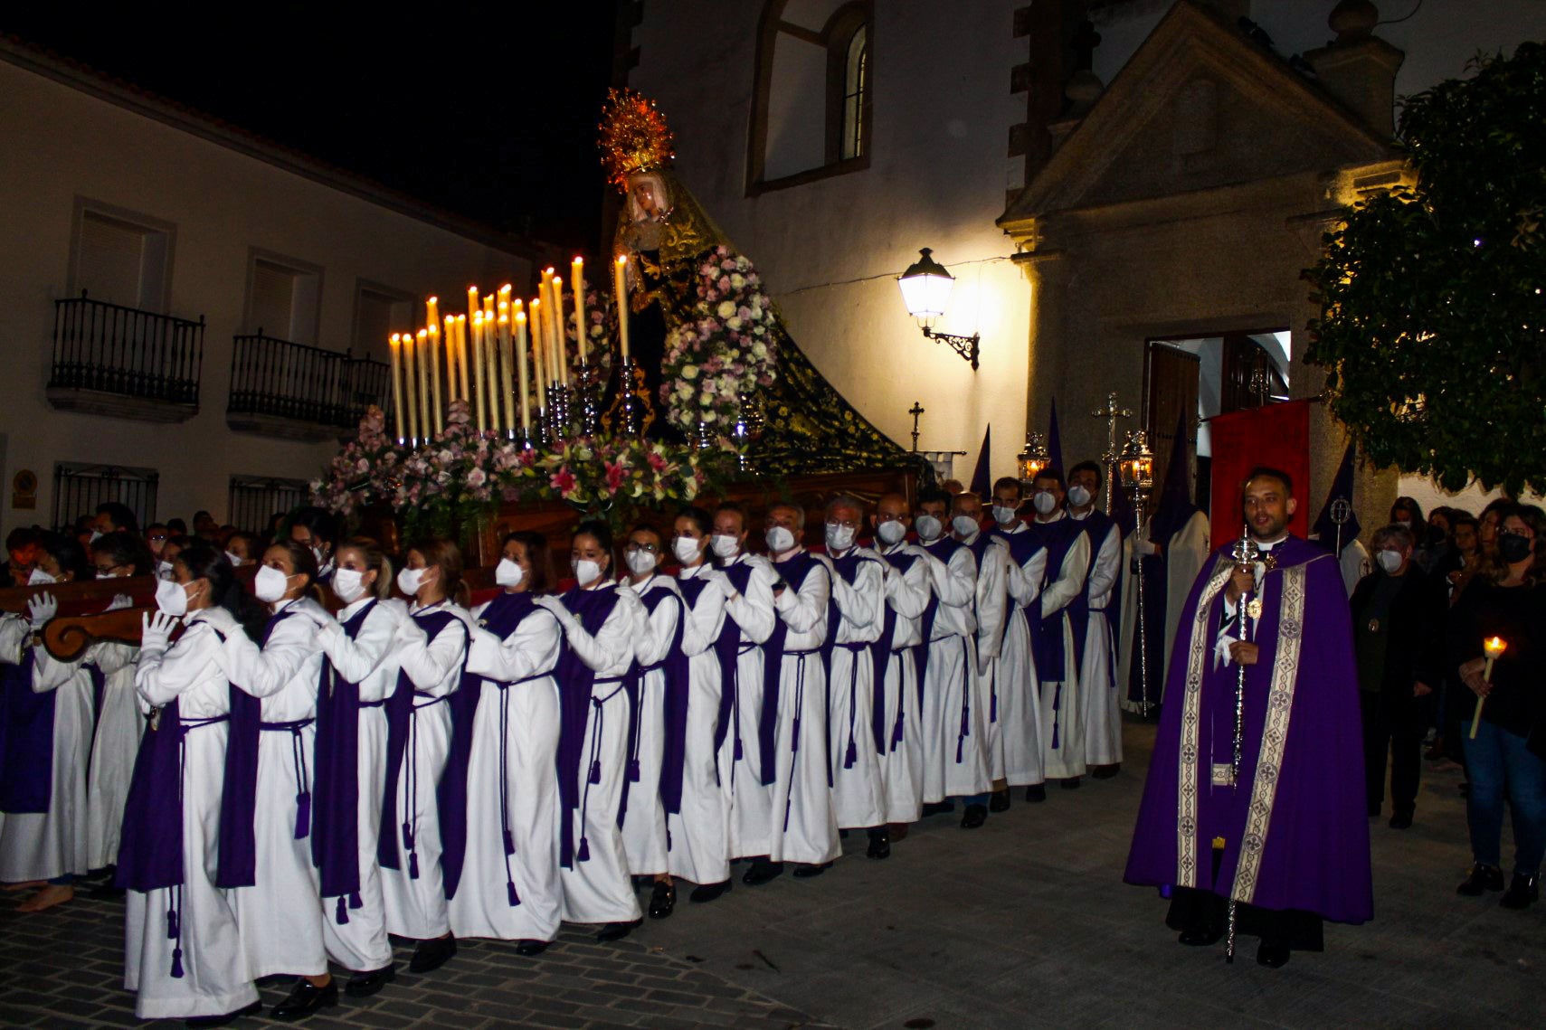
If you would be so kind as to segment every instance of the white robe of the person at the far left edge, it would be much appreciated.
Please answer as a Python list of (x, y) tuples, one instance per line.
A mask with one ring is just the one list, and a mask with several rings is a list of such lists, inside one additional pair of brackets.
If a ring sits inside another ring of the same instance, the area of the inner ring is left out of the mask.
[(32, 693), (54, 693), (54, 749), (46, 812), (8, 812), (0, 820), (0, 882), (51, 880), (90, 871), (87, 848), (87, 755), (91, 749), (91, 676), (62, 665), (32, 636), (26, 617), (0, 620), (0, 662), (32, 662)]

